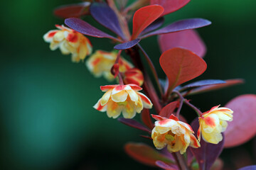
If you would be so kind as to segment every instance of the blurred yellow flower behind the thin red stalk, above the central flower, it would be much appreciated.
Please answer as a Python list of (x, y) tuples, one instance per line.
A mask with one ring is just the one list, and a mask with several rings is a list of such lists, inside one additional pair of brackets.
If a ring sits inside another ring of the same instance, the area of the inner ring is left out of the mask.
[[(117, 59), (117, 52), (105, 52), (97, 50), (86, 62), (89, 71), (95, 77), (105, 77), (105, 79), (112, 81), (114, 76), (111, 74), (111, 68)], [(133, 65), (123, 57), (119, 58), (119, 72), (125, 72), (131, 69)]]

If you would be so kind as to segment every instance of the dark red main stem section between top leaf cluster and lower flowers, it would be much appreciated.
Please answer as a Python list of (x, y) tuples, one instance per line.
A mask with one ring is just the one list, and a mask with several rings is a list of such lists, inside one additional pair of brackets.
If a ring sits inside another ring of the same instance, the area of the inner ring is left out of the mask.
[(127, 55), (131, 56), (135, 67), (142, 70), (142, 73), (144, 74), (144, 84), (142, 87), (146, 94), (149, 96), (150, 100), (152, 101), (154, 108), (156, 109), (156, 113), (159, 114), (161, 111), (159, 97), (157, 96), (156, 91), (154, 90), (154, 86), (149, 79), (149, 75), (145, 72), (137, 47), (127, 50)]

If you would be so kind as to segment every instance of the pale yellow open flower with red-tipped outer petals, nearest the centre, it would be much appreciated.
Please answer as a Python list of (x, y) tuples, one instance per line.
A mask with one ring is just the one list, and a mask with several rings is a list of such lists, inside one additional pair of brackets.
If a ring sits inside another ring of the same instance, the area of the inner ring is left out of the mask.
[(124, 118), (134, 118), (143, 108), (152, 108), (152, 103), (136, 84), (100, 86), (106, 93), (93, 106), (98, 111), (107, 111), (109, 118), (117, 118), (121, 113)]

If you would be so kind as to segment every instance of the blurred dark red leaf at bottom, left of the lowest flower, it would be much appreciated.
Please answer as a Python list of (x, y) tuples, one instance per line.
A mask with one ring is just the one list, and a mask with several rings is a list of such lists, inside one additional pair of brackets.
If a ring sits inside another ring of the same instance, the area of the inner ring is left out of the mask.
[(124, 150), (133, 159), (149, 166), (156, 166), (155, 162), (159, 160), (166, 164), (174, 163), (171, 159), (165, 157), (164, 154), (160, 154), (152, 147), (143, 143), (127, 143), (124, 146)]

